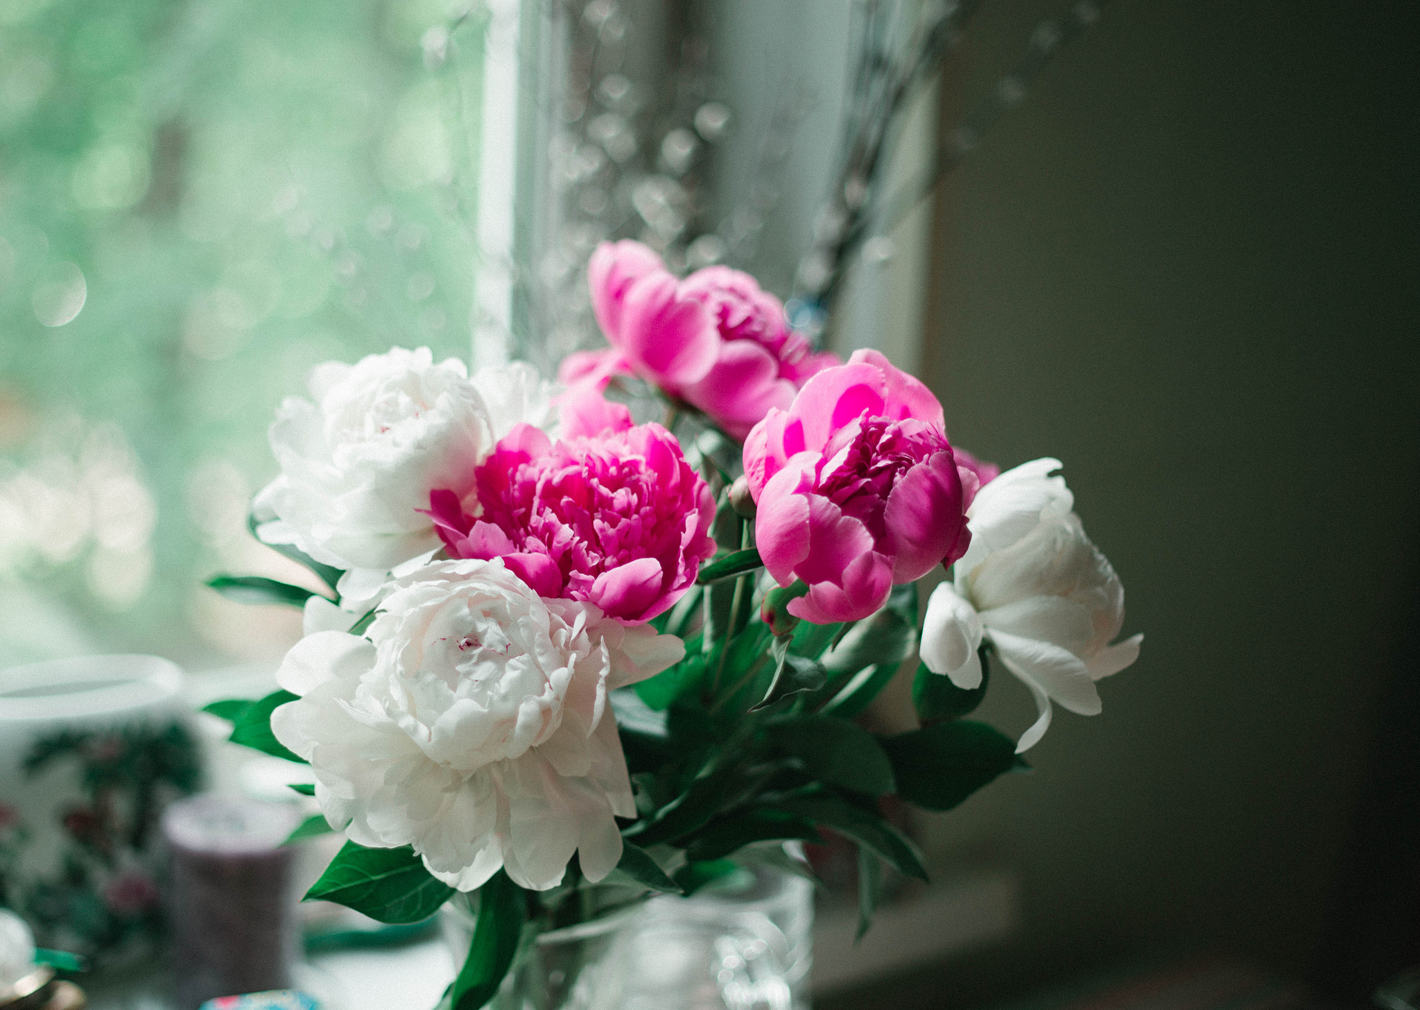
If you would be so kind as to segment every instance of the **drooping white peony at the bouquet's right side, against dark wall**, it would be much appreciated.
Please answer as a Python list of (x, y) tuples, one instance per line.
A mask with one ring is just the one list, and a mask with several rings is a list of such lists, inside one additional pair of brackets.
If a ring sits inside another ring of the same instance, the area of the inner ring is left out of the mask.
[(1110, 645), (1125, 622), (1125, 588), (1089, 541), (1059, 460), (1038, 459), (983, 487), (967, 510), (971, 545), (927, 602), (922, 661), (958, 688), (981, 685), (977, 648), (991, 642), (1039, 712), (1017, 753), (1051, 724), (1051, 702), (1093, 716), (1095, 682), (1139, 658), (1143, 635)]

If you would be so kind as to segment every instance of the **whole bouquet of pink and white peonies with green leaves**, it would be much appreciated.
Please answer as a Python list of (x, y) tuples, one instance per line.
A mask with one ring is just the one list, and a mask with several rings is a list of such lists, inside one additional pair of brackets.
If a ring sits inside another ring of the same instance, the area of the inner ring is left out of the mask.
[[(298, 834), (348, 842), (310, 896), (403, 923), (477, 892), (460, 1010), (598, 906), (569, 895), (808, 872), (784, 842), (822, 831), (858, 847), (866, 928), (880, 862), (926, 878), (882, 797), (954, 807), (1139, 653), (1056, 460), (953, 447), (922, 382), (812, 352), (743, 273), (621, 241), (589, 281), (611, 348), (559, 384), (427, 349), (317, 368), (251, 523), (331, 592), (212, 581), (305, 608), (281, 690), (212, 710), (311, 764)], [(633, 423), (638, 391), (663, 423)], [(903, 663), (920, 729), (870, 733)], [(1039, 709), (1018, 743), (963, 719), (994, 666)]]

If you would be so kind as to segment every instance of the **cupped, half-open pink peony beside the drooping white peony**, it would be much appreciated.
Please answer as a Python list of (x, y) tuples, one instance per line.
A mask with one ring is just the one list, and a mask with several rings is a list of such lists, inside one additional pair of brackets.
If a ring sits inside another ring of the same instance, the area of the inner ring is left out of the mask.
[(876, 351), (811, 378), (744, 443), (764, 567), (809, 585), (790, 614), (865, 618), (893, 585), (951, 564), (971, 541), (973, 470), (947, 442), (941, 403)]

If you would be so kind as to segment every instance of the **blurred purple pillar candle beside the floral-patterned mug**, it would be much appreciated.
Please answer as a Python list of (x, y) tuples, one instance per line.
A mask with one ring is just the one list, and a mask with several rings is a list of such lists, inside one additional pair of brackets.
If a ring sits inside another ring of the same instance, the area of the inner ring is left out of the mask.
[(168, 807), (173, 974), (180, 1010), (214, 996), (291, 986), (300, 953), (294, 849), (300, 814), (283, 804), (206, 794)]

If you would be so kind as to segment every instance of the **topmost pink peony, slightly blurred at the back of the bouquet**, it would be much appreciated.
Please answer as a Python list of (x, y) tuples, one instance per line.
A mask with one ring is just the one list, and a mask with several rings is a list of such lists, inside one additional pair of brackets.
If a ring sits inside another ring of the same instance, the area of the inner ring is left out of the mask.
[(598, 246), (586, 276), (612, 347), (568, 357), (559, 374), (568, 385), (640, 375), (743, 439), (770, 409), (788, 408), (809, 376), (841, 364), (812, 354), (780, 300), (738, 270), (676, 280), (650, 249), (623, 240)]

